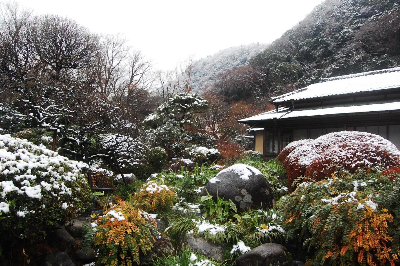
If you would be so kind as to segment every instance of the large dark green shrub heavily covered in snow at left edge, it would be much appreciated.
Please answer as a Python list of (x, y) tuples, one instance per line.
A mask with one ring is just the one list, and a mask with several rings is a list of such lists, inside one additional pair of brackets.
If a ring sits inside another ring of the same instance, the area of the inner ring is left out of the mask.
[(84, 210), (91, 199), (82, 173), (87, 167), (44, 146), (0, 135), (1, 230), (34, 239)]

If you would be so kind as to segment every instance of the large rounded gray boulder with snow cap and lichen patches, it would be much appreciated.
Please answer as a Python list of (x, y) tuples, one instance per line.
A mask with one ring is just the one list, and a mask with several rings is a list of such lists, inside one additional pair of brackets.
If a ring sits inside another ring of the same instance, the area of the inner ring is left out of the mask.
[(238, 210), (249, 210), (252, 206), (269, 208), (275, 204), (270, 184), (263, 174), (252, 166), (234, 164), (220, 171), (206, 185), (206, 190), (216, 200), (232, 200)]

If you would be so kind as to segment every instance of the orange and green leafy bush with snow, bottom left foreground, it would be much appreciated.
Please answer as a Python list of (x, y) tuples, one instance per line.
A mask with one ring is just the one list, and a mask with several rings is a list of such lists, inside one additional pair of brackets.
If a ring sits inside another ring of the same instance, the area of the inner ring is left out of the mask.
[(92, 222), (94, 244), (98, 249), (96, 264), (128, 266), (140, 264), (139, 255), (147, 254), (159, 237), (154, 215), (119, 201)]

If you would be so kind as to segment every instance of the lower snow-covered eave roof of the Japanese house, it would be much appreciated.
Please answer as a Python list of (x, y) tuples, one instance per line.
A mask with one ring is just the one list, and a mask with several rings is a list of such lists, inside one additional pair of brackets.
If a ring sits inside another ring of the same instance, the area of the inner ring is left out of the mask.
[(249, 118), (238, 120), (238, 122), (252, 122), (271, 119), (288, 119), (304, 116), (328, 116), (341, 115), (348, 113), (369, 113), (400, 110), (400, 101), (384, 102), (384, 103), (352, 103), (347, 105), (324, 106), (320, 108), (308, 108), (302, 110), (291, 111), (289, 108), (280, 108), (278, 112), (270, 111), (258, 114)]

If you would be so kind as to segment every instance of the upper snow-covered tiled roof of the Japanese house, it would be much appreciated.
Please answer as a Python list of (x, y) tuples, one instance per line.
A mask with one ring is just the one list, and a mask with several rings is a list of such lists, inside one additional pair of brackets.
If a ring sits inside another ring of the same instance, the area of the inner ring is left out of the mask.
[(324, 78), (321, 82), (272, 97), (272, 103), (400, 88), (400, 67)]

